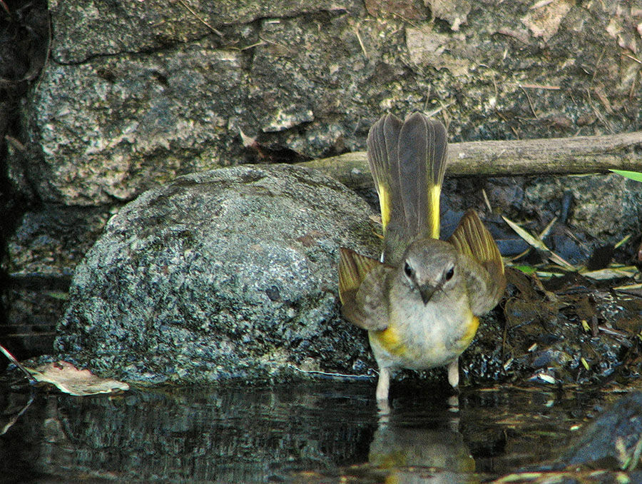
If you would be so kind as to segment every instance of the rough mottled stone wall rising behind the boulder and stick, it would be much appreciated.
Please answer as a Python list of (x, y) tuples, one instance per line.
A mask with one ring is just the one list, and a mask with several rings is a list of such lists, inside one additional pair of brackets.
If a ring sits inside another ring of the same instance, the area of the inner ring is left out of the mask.
[[(364, 148), (382, 111), (432, 112), (452, 141), (642, 125), (642, 9), (632, 0), (49, 9), (51, 52), (24, 99), (22, 146), (6, 145), (9, 183), (29, 207), (3, 263), (9, 322), (59, 316), (68, 275), (123, 203), (177, 175), (252, 158), (241, 131), (287, 148), (275, 152), (288, 161)], [(511, 206), (492, 194), (491, 203)]]

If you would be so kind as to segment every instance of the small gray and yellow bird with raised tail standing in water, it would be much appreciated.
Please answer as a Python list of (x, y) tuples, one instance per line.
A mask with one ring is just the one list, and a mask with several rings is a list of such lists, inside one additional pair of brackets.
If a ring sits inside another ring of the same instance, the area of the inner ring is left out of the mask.
[(342, 314), (368, 331), (379, 365), (377, 400), (387, 401), (392, 371), (448, 365), (459, 384), (459, 355), (479, 316), (506, 288), (499, 249), (477, 213), (467, 211), (439, 240), (439, 196), (446, 171), (446, 128), (422, 113), (374, 123), (367, 155), (384, 234), (380, 261), (340, 248)]

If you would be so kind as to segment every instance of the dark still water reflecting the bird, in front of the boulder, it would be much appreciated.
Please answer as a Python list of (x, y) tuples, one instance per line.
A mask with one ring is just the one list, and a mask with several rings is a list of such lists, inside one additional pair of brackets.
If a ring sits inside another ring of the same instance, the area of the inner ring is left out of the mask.
[(559, 455), (603, 396), (464, 388), (457, 410), (447, 391), (398, 383), (384, 412), (374, 381), (83, 398), (0, 382), (0, 475), (11, 483), (479, 482)]

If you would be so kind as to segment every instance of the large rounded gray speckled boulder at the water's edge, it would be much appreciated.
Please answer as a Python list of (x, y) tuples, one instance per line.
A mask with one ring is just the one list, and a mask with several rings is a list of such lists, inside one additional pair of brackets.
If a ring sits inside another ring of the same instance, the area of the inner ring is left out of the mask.
[(295, 166), (195, 173), (128, 203), (78, 265), (56, 349), (125, 380), (361, 373), (342, 321), (339, 246), (374, 253), (370, 208)]

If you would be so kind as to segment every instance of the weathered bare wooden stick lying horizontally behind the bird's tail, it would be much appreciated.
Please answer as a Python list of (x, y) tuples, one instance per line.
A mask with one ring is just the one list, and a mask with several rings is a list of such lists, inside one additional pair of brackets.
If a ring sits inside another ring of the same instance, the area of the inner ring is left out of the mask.
[[(352, 188), (372, 186), (365, 151), (297, 163)], [(448, 145), (448, 176), (519, 176), (642, 171), (642, 131), (606, 136), (472, 141)]]

